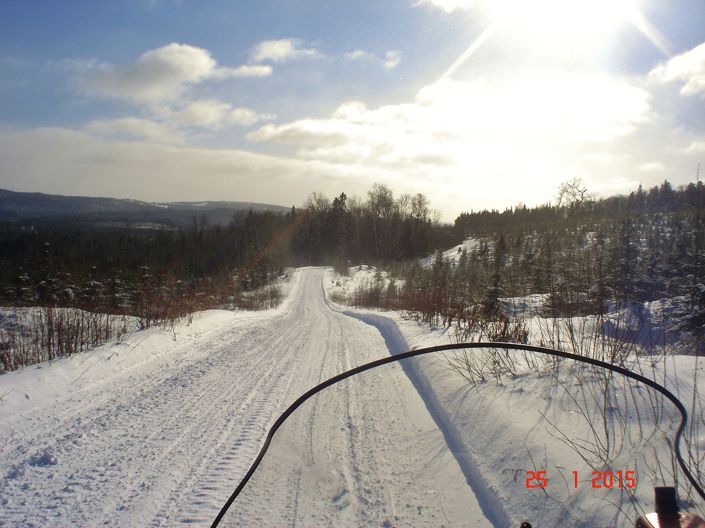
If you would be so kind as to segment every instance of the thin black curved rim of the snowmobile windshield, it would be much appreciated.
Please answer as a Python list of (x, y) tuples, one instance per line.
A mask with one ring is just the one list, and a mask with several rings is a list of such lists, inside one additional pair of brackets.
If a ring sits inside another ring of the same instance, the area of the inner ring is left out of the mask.
[(388, 356), (386, 358), (381, 358), (379, 360), (374, 360), (371, 361), (370, 363), (365, 363), (364, 365), (360, 365), (359, 367), (355, 367), (350, 370), (346, 370), (345, 372), (341, 372), (341, 374), (338, 374), (336, 376), (333, 376), (329, 379), (326, 379), (326, 381), (318, 384), (317, 386), (314, 386), (312, 389), (309, 389), (306, 391), (304, 394), (302, 394), (296, 401), (294, 401), (282, 414), (280, 417), (277, 418), (277, 420), (274, 422), (274, 425), (271, 426), (271, 429), (269, 429), (269, 432), (266, 436), (266, 439), (264, 441), (264, 444), (262, 445), (262, 448), (260, 449), (257, 458), (255, 458), (255, 461), (252, 463), (252, 466), (250, 469), (247, 471), (245, 474), (245, 477), (240, 481), (240, 484), (235, 488), (235, 491), (233, 491), (233, 494), (228, 498), (226, 503), (223, 505), (221, 510), (219, 511), (218, 515), (216, 516), (213, 524), (211, 525), (212, 528), (216, 528), (221, 520), (223, 519), (224, 515), (228, 512), (228, 508), (232, 505), (232, 503), (235, 501), (235, 498), (238, 497), (241, 491), (245, 488), (247, 485), (247, 482), (250, 481), (250, 478), (252, 475), (257, 471), (257, 467), (259, 467), (259, 464), (262, 462), (262, 459), (264, 458), (264, 455), (266, 455), (266, 452), (271, 444), (272, 439), (274, 438), (274, 434), (276, 434), (277, 430), (283, 423), (287, 420), (287, 418), (294, 413), (294, 411), (299, 408), (305, 401), (307, 401), (309, 398), (312, 396), (318, 394), (320, 391), (323, 391), (327, 387), (334, 385), (338, 382), (343, 381), (344, 379), (348, 379), (349, 377), (353, 377), (357, 374), (360, 374), (360, 372), (364, 372), (366, 370), (371, 370), (376, 367), (381, 367), (382, 365), (388, 365), (389, 363), (394, 363), (394, 362), (399, 362), (401, 360), (404, 360), (406, 358), (412, 358), (415, 356), (423, 356), (424, 354), (430, 354), (434, 352), (441, 352), (441, 351), (455, 351), (455, 350), (463, 350), (463, 349), (469, 349), (469, 348), (496, 348), (496, 349), (504, 349), (504, 350), (516, 350), (516, 351), (529, 351), (529, 352), (535, 352), (535, 353), (541, 353), (545, 354), (548, 356), (557, 356), (560, 358), (567, 358), (570, 360), (575, 360), (580, 363), (588, 363), (590, 365), (595, 365), (596, 367), (603, 368), (605, 370), (610, 370), (612, 372), (617, 372), (618, 374), (621, 374), (625, 377), (629, 377), (631, 379), (635, 379), (637, 382), (643, 383), (652, 389), (655, 389), (659, 393), (663, 394), (663, 396), (666, 396), (668, 400), (673, 403), (673, 405), (678, 409), (680, 413), (680, 425), (678, 425), (678, 429), (675, 433), (675, 437), (673, 439), (673, 446), (674, 446), (674, 451), (675, 451), (675, 457), (678, 460), (678, 463), (685, 473), (685, 476), (689, 480), (690, 484), (692, 484), (693, 488), (697, 491), (699, 496), (705, 500), (705, 491), (702, 489), (700, 486), (699, 482), (697, 479), (692, 475), (692, 473), (689, 471), (685, 461), (683, 460), (681, 454), (680, 454), (680, 439), (682, 437), (682, 433), (687, 425), (687, 411), (685, 409), (685, 406), (676, 398), (676, 396), (670, 392), (666, 387), (662, 386), (661, 384), (658, 384), (654, 382), (654, 380), (649, 379), (647, 377), (644, 377), (642, 375), (637, 374), (637, 372), (632, 372), (631, 370), (626, 369), (625, 367), (621, 367), (619, 365), (613, 365), (611, 363), (606, 363), (601, 360), (597, 360), (594, 358), (589, 358), (586, 356), (579, 356), (574, 353), (570, 352), (565, 352), (565, 351), (560, 351), (555, 348), (547, 348), (544, 346), (534, 346), (534, 345), (528, 345), (528, 344), (516, 344), (516, 343), (502, 343), (502, 342), (495, 342), (495, 341), (479, 341), (475, 343), (459, 343), (459, 344), (446, 344), (446, 345), (438, 345), (438, 346), (429, 346), (429, 347), (424, 347), (424, 348), (416, 348), (414, 350), (410, 350), (404, 353), (399, 353), (395, 354), (393, 356)]

